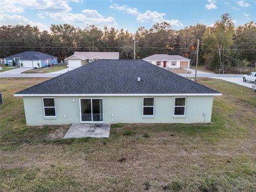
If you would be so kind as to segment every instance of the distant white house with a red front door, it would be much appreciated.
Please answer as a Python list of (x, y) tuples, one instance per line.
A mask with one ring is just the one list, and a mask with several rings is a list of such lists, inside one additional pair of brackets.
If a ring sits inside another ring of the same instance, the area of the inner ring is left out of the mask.
[(180, 55), (154, 54), (143, 60), (163, 68), (189, 68), (190, 59)]

